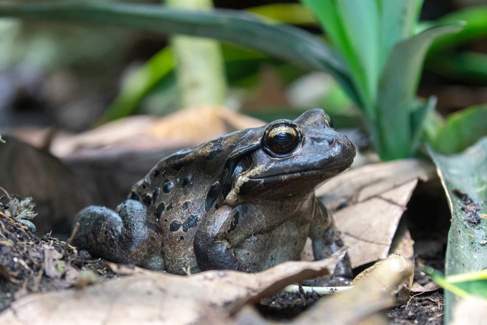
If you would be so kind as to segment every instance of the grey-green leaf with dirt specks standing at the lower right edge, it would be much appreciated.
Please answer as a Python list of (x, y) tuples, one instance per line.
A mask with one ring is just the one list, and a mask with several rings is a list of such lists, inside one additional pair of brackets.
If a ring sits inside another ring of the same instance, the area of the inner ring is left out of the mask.
[[(446, 192), (451, 227), (446, 248), (445, 274), (487, 268), (487, 137), (460, 154), (445, 156), (428, 148)], [(456, 298), (445, 292), (445, 323), (451, 320)]]

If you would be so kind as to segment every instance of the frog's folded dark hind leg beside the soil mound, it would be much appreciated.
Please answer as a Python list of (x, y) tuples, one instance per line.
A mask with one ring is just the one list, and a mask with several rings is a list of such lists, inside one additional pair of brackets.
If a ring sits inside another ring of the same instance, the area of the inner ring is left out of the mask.
[(127, 200), (116, 211), (89, 206), (76, 215), (80, 226), (73, 243), (95, 256), (118, 263), (164, 269), (161, 229), (147, 207)]

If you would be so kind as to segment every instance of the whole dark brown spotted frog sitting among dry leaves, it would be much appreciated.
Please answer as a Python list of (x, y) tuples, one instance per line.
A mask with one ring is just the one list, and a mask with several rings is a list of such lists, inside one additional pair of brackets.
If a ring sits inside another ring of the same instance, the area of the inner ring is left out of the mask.
[[(74, 242), (115, 262), (184, 274), (256, 272), (343, 246), (314, 190), (352, 164), (355, 147), (321, 109), (221, 136), (164, 159), (115, 211), (77, 215)], [(351, 276), (344, 258), (334, 278)]]

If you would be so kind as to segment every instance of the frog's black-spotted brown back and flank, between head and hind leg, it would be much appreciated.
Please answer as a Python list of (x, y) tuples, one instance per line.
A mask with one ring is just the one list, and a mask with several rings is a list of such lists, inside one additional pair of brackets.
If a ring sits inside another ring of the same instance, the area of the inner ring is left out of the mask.
[(162, 230), (168, 272), (198, 271), (193, 237), (207, 214), (221, 206), (221, 178), (227, 137), (178, 151), (134, 185), (130, 198), (143, 202)]

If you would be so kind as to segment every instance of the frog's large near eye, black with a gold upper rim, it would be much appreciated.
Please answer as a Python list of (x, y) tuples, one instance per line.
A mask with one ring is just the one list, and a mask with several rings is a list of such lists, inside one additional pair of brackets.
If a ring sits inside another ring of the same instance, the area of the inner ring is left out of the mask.
[(274, 154), (291, 153), (301, 143), (301, 132), (292, 123), (279, 123), (271, 126), (264, 133), (263, 146)]

